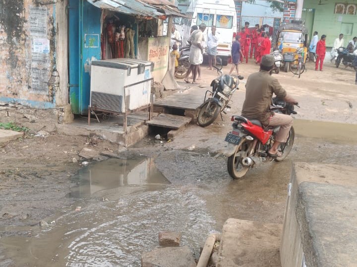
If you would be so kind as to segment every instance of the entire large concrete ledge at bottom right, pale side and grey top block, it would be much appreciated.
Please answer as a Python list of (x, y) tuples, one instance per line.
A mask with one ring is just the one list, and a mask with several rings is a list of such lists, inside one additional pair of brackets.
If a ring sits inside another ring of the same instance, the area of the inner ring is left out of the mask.
[(280, 248), (282, 267), (357, 266), (357, 169), (295, 163)]

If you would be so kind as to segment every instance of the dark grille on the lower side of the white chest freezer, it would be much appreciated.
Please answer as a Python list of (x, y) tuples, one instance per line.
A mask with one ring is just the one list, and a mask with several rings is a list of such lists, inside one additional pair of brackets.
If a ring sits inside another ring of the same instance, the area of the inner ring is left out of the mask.
[(122, 95), (91, 91), (91, 107), (121, 112)]

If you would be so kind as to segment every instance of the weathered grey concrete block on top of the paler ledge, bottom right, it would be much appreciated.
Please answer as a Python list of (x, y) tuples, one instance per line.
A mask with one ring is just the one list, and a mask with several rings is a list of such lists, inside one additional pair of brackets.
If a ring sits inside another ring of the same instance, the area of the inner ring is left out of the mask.
[(302, 182), (296, 217), (306, 266), (357, 266), (357, 187)]

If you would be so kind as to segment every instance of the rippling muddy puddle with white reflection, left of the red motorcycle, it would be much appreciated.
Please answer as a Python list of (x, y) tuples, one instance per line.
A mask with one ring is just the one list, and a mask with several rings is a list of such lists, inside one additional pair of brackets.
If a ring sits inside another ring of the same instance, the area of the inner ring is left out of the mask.
[(161, 231), (181, 232), (181, 244), (198, 250), (216, 230), (205, 201), (170, 184), (150, 158), (110, 159), (76, 179), (76, 203), (47, 218), (48, 228), (0, 239), (10, 266), (136, 267), (142, 252), (158, 247)]

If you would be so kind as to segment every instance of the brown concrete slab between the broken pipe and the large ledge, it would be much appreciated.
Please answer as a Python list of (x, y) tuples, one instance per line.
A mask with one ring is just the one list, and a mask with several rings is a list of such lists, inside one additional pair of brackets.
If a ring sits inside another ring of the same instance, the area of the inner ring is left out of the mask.
[(282, 225), (228, 219), (216, 267), (279, 267)]

